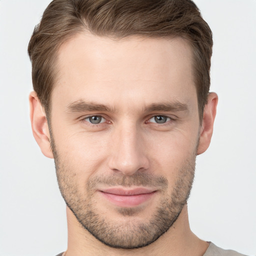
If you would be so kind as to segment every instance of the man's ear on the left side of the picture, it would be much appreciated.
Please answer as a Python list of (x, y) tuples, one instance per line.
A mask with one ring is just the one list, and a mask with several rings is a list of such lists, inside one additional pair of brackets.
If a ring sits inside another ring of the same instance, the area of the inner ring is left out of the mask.
[(50, 133), (43, 107), (34, 91), (29, 94), (30, 121), (34, 138), (41, 148), (42, 153), (53, 158), (50, 147)]

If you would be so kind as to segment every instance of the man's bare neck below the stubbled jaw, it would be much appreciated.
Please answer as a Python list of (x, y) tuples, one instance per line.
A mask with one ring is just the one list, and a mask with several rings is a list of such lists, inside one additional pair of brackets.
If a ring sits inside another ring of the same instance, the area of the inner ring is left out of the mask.
[(109, 247), (91, 235), (77, 221), (69, 208), (67, 212), (68, 243), (65, 256), (109, 255), (109, 256), (202, 256), (208, 243), (195, 236), (189, 227), (187, 205), (174, 224), (151, 244), (137, 249)]

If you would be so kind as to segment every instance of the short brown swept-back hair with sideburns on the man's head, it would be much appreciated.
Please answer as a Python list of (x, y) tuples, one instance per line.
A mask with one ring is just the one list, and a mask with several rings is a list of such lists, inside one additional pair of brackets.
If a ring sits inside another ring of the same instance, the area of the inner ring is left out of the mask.
[(35, 26), (28, 45), (33, 88), (46, 114), (57, 70), (59, 46), (71, 36), (89, 31), (99, 36), (123, 38), (186, 38), (193, 51), (194, 82), (199, 117), (210, 85), (212, 33), (191, 0), (53, 0)]

